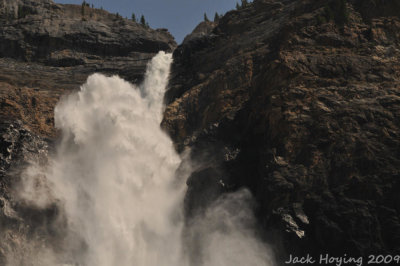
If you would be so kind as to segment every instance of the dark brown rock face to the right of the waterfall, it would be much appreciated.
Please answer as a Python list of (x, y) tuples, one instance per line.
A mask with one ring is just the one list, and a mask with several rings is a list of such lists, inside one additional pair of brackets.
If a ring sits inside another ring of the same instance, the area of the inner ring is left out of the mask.
[(282, 264), (400, 251), (400, 9), (348, 2), (255, 0), (174, 52), (162, 126), (251, 189)]

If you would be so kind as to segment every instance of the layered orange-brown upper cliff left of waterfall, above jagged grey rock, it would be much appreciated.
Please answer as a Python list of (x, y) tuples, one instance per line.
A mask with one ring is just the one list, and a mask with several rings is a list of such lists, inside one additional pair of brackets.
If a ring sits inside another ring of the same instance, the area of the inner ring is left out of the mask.
[(59, 97), (100, 72), (139, 82), (160, 50), (176, 46), (153, 30), (104, 10), (51, 0), (0, 1), (0, 115), (54, 135)]

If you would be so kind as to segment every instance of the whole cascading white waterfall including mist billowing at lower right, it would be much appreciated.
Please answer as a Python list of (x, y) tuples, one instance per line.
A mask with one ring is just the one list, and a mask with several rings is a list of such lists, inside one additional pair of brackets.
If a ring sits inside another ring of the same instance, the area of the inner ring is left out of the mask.
[(164, 52), (155, 56), (140, 87), (94, 74), (57, 105), (62, 140), (44, 175), (67, 233), (47, 265), (272, 265), (243, 225), (252, 220), (243, 191), (217, 201), (187, 230), (202, 236), (202, 259), (184, 252), (191, 245), (182, 236), (186, 180), (176, 177), (181, 160), (160, 128), (171, 61)]

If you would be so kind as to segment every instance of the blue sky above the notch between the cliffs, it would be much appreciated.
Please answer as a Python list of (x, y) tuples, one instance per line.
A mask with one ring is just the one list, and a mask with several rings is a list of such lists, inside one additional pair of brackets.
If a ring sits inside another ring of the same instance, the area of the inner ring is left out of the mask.
[[(81, 4), (82, 0), (55, 0), (56, 3)], [(95, 7), (119, 13), (130, 18), (132, 12), (139, 18), (143, 14), (152, 28), (167, 28), (179, 44), (203, 20), (215, 12), (234, 9), (240, 0), (86, 0)]]

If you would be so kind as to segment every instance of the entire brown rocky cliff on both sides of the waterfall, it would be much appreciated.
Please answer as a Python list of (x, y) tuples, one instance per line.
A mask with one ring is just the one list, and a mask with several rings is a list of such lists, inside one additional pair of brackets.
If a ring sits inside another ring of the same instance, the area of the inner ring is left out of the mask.
[(201, 165), (188, 219), (247, 187), (280, 264), (398, 254), (399, 14), (397, 0), (255, 0), (174, 50), (166, 30), (100, 9), (0, 0), (0, 264), (31, 239), (61, 249), (57, 206), (12, 197), (20, 166), (46, 163), (60, 95), (94, 72), (139, 81), (159, 50), (174, 50), (162, 126)]

